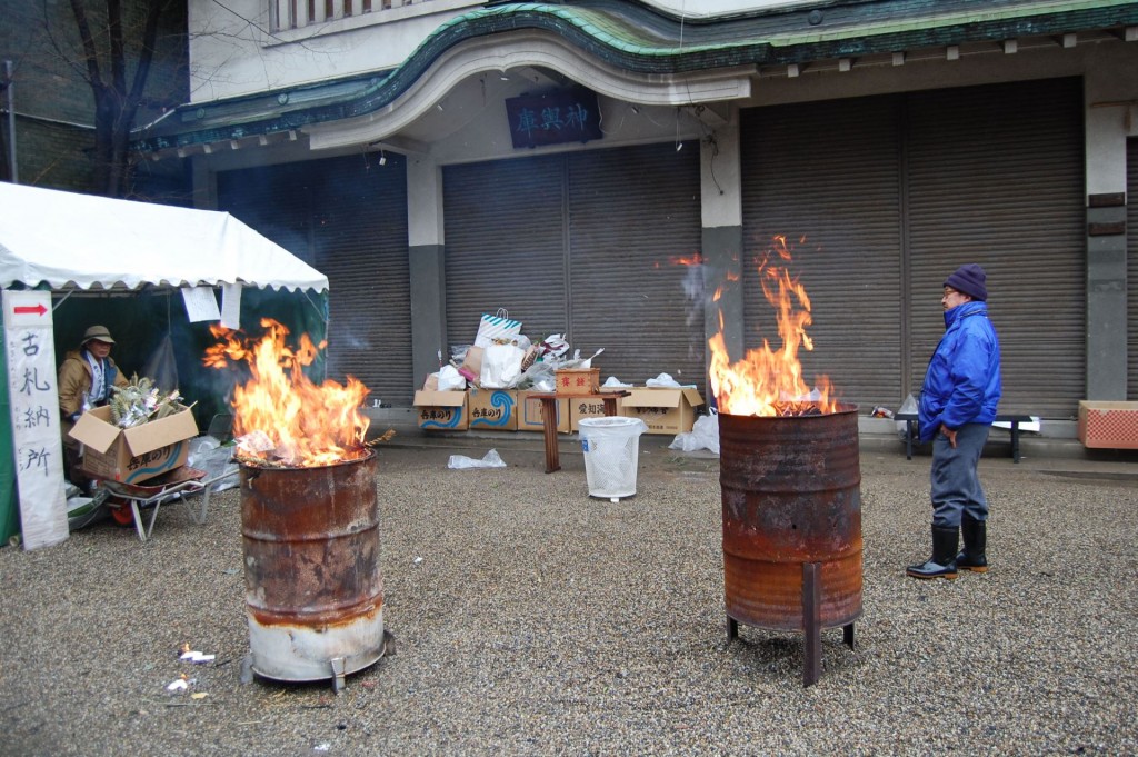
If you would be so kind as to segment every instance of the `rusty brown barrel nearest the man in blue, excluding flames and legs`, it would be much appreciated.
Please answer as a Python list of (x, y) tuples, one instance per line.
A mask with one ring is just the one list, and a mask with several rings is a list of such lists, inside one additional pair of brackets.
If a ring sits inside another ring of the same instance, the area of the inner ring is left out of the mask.
[(719, 414), (723, 559), (729, 619), (805, 631), (803, 566), (816, 563), (822, 627), (861, 615), (857, 408)]

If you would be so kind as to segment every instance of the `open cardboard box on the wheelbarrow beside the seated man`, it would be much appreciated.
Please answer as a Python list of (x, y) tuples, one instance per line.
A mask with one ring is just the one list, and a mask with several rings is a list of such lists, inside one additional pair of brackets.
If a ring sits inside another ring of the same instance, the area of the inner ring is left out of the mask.
[(84, 445), (83, 470), (94, 478), (139, 484), (181, 468), (190, 452), (187, 439), (198, 435), (193, 413), (183, 408), (134, 428), (115, 426), (110, 408), (83, 413), (71, 437)]

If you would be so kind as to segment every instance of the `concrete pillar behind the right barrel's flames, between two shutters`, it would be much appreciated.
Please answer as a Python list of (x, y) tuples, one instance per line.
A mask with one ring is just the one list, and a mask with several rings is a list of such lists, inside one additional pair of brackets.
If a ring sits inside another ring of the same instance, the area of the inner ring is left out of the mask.
[[(743, 192), (741, 186), (739, 109), (725, 125), (700, 142), (702, 199), (704, 340), (723, 331), (732, 362), (745, 352), (743, 342)], [(707, 351), (706, 361), (710, 364)], [(704, 367), (707, 368), (707, 367)], [(710, 382), (708, 384), (710, 392)], [(709, 405), (714, 397), (708, 398)]]

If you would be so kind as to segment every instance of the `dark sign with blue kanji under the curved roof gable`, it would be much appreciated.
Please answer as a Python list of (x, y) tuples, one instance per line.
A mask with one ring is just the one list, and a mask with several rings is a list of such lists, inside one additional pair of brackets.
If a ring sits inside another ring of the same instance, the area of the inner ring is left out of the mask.
[(550, 94), (506, 98), (514, 147), (538, 147), (601, 139), (596, 92), (583, 87)]

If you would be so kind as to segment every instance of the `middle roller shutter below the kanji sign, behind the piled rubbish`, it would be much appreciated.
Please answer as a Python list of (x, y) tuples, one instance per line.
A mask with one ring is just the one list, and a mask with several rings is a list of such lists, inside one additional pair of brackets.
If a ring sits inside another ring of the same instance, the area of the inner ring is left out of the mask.
[[(699, 153), (675, 145), (448, 166), (446, 322), (473, 340), (498, 307), (534, 340), (604, 347), (604, 376), (703, 380), (703, 316), (685, 298), (699, 252)], [(695, 274), (699, 275), (698, 273)]]

